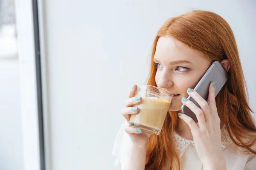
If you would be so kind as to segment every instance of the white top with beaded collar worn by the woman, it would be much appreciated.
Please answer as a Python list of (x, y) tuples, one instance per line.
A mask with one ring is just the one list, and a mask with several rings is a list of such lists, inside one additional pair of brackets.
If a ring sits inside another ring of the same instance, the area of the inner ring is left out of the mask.
[[(112, 155), (116, 157), (116, 166), (120, 170), (124, 170), (125, 164), (128, 159), (129, 150), (131, 147), (131, 139), (125, 132), (125, 126), (128, 125), (124, 122), (116, 135)], [(223, 137), (226, 137), (229, 142), (225, 142)], [(233, 141), (227, 133), (227, 128), (224, 125), (221, 128), (221, 141), (222, 152), (226, 159), (227, 170), (256, 170), (256, 156), (251, 153), (250, 155), (239, 155), (231, 148)], [(184, 139), (175, 133), (175, 141), (177, 153), (180, 158), (181, 170), (203, 170), (198, 154), (195, 149), (195, 144), (192, 140)], [(233, 143), (234, 144), (234, 143)], [(253, 147), (255, 149), (255, 146)]]

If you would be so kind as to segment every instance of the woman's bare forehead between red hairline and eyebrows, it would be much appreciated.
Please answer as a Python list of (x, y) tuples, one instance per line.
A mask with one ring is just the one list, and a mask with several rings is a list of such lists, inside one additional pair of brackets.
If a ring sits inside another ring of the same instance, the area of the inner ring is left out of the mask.
[(168, 59), (169, 61), (186, 59), (190, 62), (207, 59), (200, 51), (189, 48), (188, 45), (169, 36), (159, 38), (154, 58), (158, 60)]

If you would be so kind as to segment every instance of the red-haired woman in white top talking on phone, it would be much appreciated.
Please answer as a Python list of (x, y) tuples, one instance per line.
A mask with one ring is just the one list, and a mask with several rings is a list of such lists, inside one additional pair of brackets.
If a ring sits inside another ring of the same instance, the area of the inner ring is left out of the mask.
[[(209, 86), (206, 102), (192, 89), (212, 62), (219, 61), (229, 79), (215, 98)], [(143, 102), (129, 92), (122, 115), (126, 122), (114, 144), (116, 163), (125, 170), (254, 170), (256, 126), (236, 40), (228, 23), (209, 11), (192, 11), (164, 23), (153, 43), (148, 85), (177, 94), (159, 136), (128, 126), (132, 105)], [(191, 96), (201, 106), (186, 98)], [(197, 116), (182, 114), (182, 105)]]

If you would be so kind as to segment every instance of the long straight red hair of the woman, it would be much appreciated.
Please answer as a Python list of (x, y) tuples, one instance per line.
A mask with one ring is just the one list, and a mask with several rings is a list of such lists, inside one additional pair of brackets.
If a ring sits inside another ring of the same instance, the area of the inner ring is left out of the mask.
[[(256, 139), (250, 134), (256, 133), (255, 122), (248, 104), (247, 86), (239, 59), (236, 40), (229, 24), (218, 14), (195, 10), (178, 17), (170, 18), (163, 24), (154, 39), (151, 68), (147, 84), (157, 86), (155, 82), (156, 67), (154, 54), (157, 41), (161, 36), (172, 36), (192, 49), (201, 51), (211, 61), (228, 59), (229, 79), (216, 96), (216, 105), (221, 122), (226, 124), (231, 140), (237, 147), (256, 154), (252, 146)], [(159, 136), (151, 136), (148, 143), (145, 170), (162, 170), (167, 161), (171, 169), (180, 169), (179, 156), (175, 152), (174, 132), (177, 126), (177, 113), (169, 112)], [(236, 137), (236, 140), (233, 136)], [(242, 139), (251, 139), (244, 143)], [(227, 140), (227, 139), (225, 139)]]

